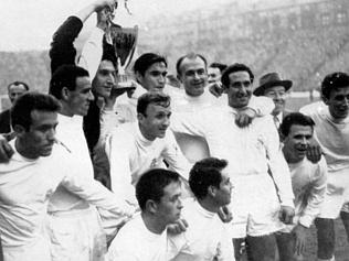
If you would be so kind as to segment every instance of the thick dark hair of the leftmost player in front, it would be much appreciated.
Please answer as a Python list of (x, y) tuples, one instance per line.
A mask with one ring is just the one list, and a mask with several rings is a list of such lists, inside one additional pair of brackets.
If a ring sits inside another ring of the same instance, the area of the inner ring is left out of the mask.
[(57, 112), (61, 104), (51, 95), (38, 91), (28, 91), (20, 96), (11, 108), (11, 126), (22, 126), (29, 131), (32, 123), (31, 113), (33, 110)]

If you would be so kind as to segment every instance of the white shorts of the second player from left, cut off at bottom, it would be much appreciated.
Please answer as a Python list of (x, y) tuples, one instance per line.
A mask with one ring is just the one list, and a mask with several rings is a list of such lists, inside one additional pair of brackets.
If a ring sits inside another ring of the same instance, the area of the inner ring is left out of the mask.
[(106, 235), (95, 207), (50, 214), (53, 261), (104, 261)]

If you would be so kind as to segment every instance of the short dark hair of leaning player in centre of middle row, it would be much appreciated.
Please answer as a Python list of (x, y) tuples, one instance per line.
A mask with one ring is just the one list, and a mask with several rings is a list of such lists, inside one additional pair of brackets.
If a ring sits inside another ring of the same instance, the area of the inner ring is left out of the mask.
[(146, 116), (147, 108), (150, 104), (160, 105), (167, 108), (170, 106), (170, 96), (158, 91), (148, 91), (138, 98), (137, 113)]

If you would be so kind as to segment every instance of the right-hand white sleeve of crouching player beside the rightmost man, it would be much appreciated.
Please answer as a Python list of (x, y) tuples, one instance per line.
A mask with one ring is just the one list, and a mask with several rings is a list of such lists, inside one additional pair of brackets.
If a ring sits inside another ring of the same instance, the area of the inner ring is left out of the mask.
[(318, 162), (318, 168), (314, 173), (311, 189), (308, 195), (307, 206), (299, 217), (299, 224), (310, 227), (316, 216), (320, 213), (320, 207), (325, 198), (327, 186), (327, 164), (324, 157)]

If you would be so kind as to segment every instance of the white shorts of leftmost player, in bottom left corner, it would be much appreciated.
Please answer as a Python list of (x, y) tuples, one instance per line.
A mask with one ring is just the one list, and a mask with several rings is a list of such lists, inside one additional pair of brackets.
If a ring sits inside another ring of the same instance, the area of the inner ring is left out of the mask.
[(40, 238), (33, 244), (25, 247), (2, 246), (4, 261), (51, 261), (49, 238)]

